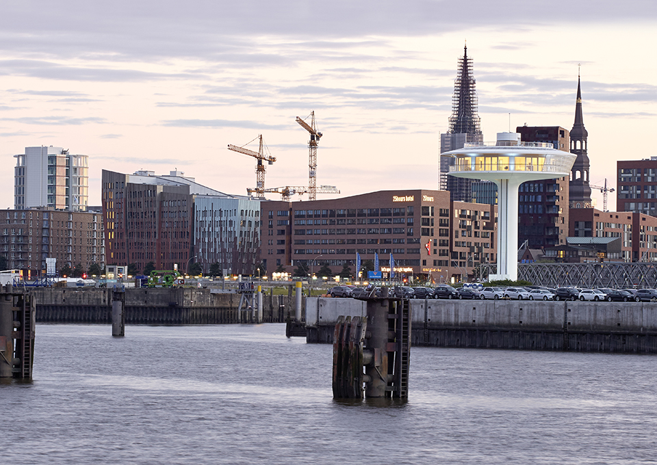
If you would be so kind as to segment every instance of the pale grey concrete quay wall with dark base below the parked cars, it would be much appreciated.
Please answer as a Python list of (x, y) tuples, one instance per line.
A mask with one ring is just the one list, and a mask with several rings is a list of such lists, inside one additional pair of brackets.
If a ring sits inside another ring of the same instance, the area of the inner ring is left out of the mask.
[[(307, 341), (332, 343), (339, 315), (365, 316), (365, 302), (307, 300)], [(411, 300), (411, 343), (657, 354), (657, 303)]]

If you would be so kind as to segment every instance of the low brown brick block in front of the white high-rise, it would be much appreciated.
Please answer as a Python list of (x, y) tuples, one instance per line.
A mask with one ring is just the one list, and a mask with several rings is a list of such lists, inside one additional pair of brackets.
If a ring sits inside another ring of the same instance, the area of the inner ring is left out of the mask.
[(23, 270), (23, 276), (40, 276), (46, 258), (57, 258), (57, 269), (105, 266), (100, 211), (5, 210), (0, 213), (0, 234), (0, 254), (10, 268)]

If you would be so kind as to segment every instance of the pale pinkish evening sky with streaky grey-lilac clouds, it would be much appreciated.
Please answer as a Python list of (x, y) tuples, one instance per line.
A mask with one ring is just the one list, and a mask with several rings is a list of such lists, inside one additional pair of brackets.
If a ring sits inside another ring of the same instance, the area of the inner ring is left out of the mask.
[(0, 17), (3, 208), (26, 146), (88, 155), (91, 205), (103, 169), (244, 195), (255, 159), (227, 145), (257, 151), (259, 134), (276, 157), (265, 187), (308, 185), (295, 118), (311, 111), (317, 185), (341, 192), (318, 199), (437, 189), (466, 41), (486, 141), (571, 129), (581, 69), (591, 183), (616, 187), (617, 160), (657, 155), (654, 0), (22, 0)]

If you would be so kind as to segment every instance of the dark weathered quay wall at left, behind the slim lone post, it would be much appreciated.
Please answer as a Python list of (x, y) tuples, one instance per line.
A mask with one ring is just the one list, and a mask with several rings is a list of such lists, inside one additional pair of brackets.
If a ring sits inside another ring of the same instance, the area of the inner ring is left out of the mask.
[[(38, 323), (111, 323), (112, 289), (36, 288)], [(305, 297), (304, 297), (305, 300)], [(240, 310), (239, 293), (213, 289), (125, 289), (127, 324), (253, 323), (251, 310)], [(292, 300), (294, 305), (294, 300)], [(294, 315), (287, 295), (263, 293), (263, 322), (283, 323)]]

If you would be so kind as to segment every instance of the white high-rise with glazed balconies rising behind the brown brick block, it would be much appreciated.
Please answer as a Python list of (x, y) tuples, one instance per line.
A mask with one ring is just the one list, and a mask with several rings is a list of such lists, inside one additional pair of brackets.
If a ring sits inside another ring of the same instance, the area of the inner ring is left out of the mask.
[(71, 155), (68, 149), (41, 146), (25, 147), (25, 153), (14, 158), (14, 209), (87, 210), (87, 155)]

